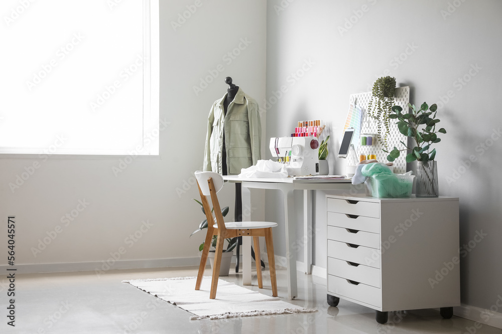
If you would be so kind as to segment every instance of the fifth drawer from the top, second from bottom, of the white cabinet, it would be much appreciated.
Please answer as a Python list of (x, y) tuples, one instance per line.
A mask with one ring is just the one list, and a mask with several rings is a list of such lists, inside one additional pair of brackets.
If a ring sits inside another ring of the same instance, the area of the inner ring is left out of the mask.
[(380, 287), (380, 269), (368, 267), (367, 265), (351, 265), (347, 261), (328, 257), (328, 274)]

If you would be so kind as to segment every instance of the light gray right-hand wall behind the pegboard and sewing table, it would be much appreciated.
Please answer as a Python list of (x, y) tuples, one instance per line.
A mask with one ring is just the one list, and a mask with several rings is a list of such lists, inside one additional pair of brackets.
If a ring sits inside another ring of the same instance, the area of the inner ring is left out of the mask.
[[(474, 240), (476, 231), (487, 234), (461, 253), (462, 302), (484, 308), (502, 292), (502, 184), (496, 176), (502, 141), (500, 135), (490, 138), (502, 126), (501, 15), (502, 2), (496, 0), (270, 0), (267, 12), (267, 99), (281, 86), (288, 89), (269, 106), (267, 138), (287, 136), (298, 120), (323, 119), (332, 135), (331, 173), (343, 172), (333, 152), (350, 94), (370, 91), (376, 78), (391, 75), (399, 86), (412, 87), (412, 103), (438, 103), (438, 118), (448, 131), (436, 146), (440, 194), (460, 197), (460, 245)], [(290, 74), (306, 60), (311, 69), (294, 82)], [(484, 150), (481, 143), (490, 146)], [(469, 157), (475, 161), (464, 166)], [(321, 267), (324, 196), (319, 191), (315, 197), (314, 263)], [(282, 221), (276, 210), (282, 196), (267, 192), (266, 203), (266, 218)], [(300, 218), (298, 233), (301, 240)], [(275, 233), (275, 250), (284, 256), (283, 235)]]

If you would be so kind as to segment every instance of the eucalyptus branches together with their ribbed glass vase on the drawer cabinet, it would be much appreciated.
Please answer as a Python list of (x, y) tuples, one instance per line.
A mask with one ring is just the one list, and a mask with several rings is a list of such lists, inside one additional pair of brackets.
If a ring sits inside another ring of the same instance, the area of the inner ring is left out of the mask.
[(411, 137), (416, 146), (408, 147), (404, 142), (401, 144), (405, 146), (404, 149), (394, 149), (389, 153), (387, 160), (394, 161), (399, 157), (401, 151), (410, 151), (406, 155), (406, 162), (417, 160), (417, 197), (437, 197), (439, 196), (438, 177), (437, 177), (437, 164), (436, 164), (436, 149), (431, 150), (432, 144), (437, 144), (441, 141), (438, 138), (438, 133), (446, 133), (444, 128), (436, 130), (436, 124), (440, 122), (436, 118), (437, 105), (433, 104), (428, 106), (423, 103), (420, 109), (415, 105), (408, 103), (411, 113), (403, 114), (403, 108), (400, 106), (392, 107), (394, 114), (389, 115), (390, 119), (396, 119), (398, 122), (399, 132), (407, 137)]

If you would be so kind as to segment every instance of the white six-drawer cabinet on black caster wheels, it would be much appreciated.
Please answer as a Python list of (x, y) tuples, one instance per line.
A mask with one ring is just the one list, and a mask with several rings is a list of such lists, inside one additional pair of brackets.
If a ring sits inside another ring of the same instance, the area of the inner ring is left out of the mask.
[(328, 303), (387, 312), (460, 305), (458, 198), (327, 195)]

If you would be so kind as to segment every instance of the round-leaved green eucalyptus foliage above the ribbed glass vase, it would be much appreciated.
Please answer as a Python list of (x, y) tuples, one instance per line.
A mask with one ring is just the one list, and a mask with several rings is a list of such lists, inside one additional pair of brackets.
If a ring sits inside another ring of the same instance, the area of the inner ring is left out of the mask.
[(446, 133), (444, 128), (440, 128), (436, 130), (436, 124), (440, 122), (439, 119), (436, 118), (437, 114), (437, 105), (433, 104), (429, 107), (427, 103), (423, 103), (420, 106), (420, 109), (417, 109), (415, 105), (408, 103), (408, 107), (411, 109), (411, 113), (403, 114), (403, 108), (400, 106), (393, 106), (392, 111), (394, 114), (389, 115), (390, 119), (396, 119), (398, 122), (399, 132), (407, 137), (413, 138), (416, 143), (416, 146), (411, 148), (408, 147), (403, 141), (400, 141), (406, 148), (398, 149), (394, 147), (394, 149), (389, 153), (386, 150), (383, 150), (386, 153), (389, 153), (387, 156), (387, 160), (394, 161), (401, 154), (401, 151), (411, 151), (406, 156), (406, 162), (412, 161), (432, 161), (436, 157), (436, 149), (431, 150), (432, 144), (437, 144), (441, 141), (441, 138), (437, 136), (438, 133)]

